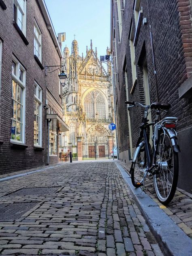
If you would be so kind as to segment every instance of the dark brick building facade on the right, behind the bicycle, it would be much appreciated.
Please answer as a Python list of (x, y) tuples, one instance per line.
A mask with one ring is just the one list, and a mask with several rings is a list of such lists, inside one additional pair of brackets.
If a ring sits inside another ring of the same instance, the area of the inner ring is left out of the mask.
[[(132, 158), (143, 113), (141, 108), (127, 110), (124, 102), (168, 102), (171, 109), (166, 115), (179, 119), (178, 186), (189, 192), (192, 182), (191, 18), (190, 0), (111, 0), (119, 159), (127, 162)], [(153, 111), (150, 118), (154, 118)]]

